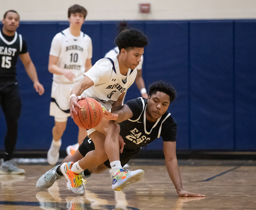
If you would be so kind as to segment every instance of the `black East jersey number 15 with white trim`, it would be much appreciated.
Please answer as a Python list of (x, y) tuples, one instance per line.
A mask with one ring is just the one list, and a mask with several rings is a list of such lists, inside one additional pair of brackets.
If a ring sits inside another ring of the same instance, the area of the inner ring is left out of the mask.
[(20, 34), (15, 31), (14, 36), (9, 37), (0, 30), (0, 78), (15, 80), (18, 55), (26, 52), (26, 44)]

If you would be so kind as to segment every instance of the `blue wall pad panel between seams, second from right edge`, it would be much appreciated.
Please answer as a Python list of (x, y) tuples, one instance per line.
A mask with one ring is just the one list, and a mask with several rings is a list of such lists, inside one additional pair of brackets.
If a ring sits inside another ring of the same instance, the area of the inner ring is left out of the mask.
[(190, 22), (191, 149), (233, 150), (233, 22)]

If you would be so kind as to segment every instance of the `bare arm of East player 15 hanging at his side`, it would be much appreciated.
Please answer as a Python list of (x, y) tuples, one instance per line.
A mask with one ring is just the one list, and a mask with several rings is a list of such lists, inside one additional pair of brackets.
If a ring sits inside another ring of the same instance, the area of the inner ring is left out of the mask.
[(45, 92), (45, 89), (44, 89), (44, 86), (42, 86), (38, 81), (36, 67), (35, 67), (34, 63), (32, 62), (32, 60), (29, 56), (29, 53), (26, 52), (24, 54), (20, 54), (19, 57), (26, 69), (26, 72), (27, 72), (29, 78), (34, 83), (34, 88), (36, 89), (36, 91), (38, 92), (38, 94), (40, 96), (43, 95)]

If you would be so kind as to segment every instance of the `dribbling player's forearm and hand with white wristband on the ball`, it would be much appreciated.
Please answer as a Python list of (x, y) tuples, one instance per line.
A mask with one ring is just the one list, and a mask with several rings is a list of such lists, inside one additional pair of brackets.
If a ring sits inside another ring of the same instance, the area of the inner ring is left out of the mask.
[[(82, 81), (73, 87), (73, 89), (71, 90), (70, 96), (73, 95), (75, 97), (71, 97), (69, 99), (71, 118), (74, 118), (73, 113), (77, 114), (77, 111), (75, 110), (75, 106), (78, 108), (81, 108), (80, 105), (77, 103), (77, 101), (79, 100), (78, 96), (81, 96), (81, 94), (83, 93), (84, 90), (88, 89), (89, 87), (91, 87), (93, 85), (94, 85), (93, 81), (88, 76), (84, 76)], [(85, 97), (82, 97), (82, 99), (83, 98), (85, 98)]]

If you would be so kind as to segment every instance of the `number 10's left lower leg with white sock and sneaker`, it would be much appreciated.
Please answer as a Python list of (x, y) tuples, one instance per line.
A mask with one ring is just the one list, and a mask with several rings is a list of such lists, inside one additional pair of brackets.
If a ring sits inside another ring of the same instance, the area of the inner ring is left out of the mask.
[(55, 121), (55, 126), (52, 129), (52, 142), (50, 149), (47, 152), (47, 161), (50, 165), (55, 165), (59, 160), (59, 150), (61, 146), (61, 136), (66, 129), (66, 122)]

